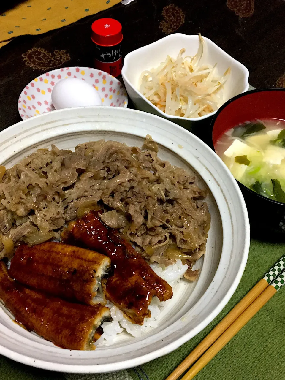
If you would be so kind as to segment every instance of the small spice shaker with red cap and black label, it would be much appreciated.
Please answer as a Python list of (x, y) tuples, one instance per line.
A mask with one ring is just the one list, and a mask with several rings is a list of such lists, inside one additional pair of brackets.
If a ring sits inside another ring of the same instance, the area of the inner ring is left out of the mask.
[(104, 18), (92, 24), (91, 40), (95, 45), (94, 67), (113, 76), (122, 70), (122, 25), (119, 21)]

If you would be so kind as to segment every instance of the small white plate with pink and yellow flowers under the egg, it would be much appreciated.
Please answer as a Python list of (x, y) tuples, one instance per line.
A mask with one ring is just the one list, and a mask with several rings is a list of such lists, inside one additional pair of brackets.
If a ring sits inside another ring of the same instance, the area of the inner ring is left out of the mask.
[(92, 84), (99, 92), (103, 106), (127, 108), (125, 87), (111, 74), (90, 67), (64, 67), (41, 74), (27, 84), (18, 100), (18, 110), (23, 120), (54, 111), (51, 92), (63, 78), (81, 78)]

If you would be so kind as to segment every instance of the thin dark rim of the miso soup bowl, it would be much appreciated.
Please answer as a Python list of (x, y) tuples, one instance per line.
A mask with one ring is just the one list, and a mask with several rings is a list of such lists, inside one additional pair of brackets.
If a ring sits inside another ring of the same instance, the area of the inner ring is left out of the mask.
[[(227, 100), (219, 109), (217, 109), (216, 114), (212, 118), (211, 125), (210, 125), (210, 129), (212, 130), (212, 142), (213, 142), (213, 146), (214, 146), (213, 128), (214, 128), (215, 121), (217, 120), (217, 117), (219, 116), (220, 112), (222, 112), (223, 109), (226, 108), (230, 103), (232, 103), (233, 101), (235, 101), (235, 100), (237, 100), (237, 99), (239, 99), (241, 97), (244, 97), (246, 95), (250, 95), (251, 93), (255, 93), (255, 92), (267, 92), (267, 91), (282, 91), (282, 92), (284, 92), (285, 88), (282, 88), (282, 87), (280, 87), (280, 88), (274, 88), (274, 87), (267, 88), (267, 87), (265, 87), (264, 89), (254, 89), (254, 90), (250, 90), (250, 91), (247, 91), (247, 92), (242, 92), (242, 93), (234, 96), (233, 98)], [(215, 146), (214, 146), (214, 150), (215, 150)], [(216, 152), (216, 150), (215, 150), (215, 152)], [(245, 186), (244, 184), (242, 184), (241, 182), (239, 182), (239, 180), (237, 180), (236, 178), (234, 178), (234, 179), (238, 182), (239, 186), (241, 186), (243, 190), (247, 190), (249, 193), (257, 196), (258, 198), (265, 199), (265, 200), (267, 200), (269, 202), (272, 202), (273, 204), (278, 204), (279, 206), (285, 206), (285, 203), (282, 203), (282, 202), (279, 202), (279, 201), (275, 201), (275, 199), (267, 198), (264, 195), (260, 195), (260, 194), (256, 193), (255, 191), (253, 191), (251, 188), (249, 188), (249, 187)]]

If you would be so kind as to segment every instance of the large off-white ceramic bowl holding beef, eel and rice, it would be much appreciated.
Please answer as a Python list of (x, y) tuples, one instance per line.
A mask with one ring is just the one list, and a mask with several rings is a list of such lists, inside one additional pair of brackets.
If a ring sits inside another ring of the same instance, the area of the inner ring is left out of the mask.
[(163, 309), (158, 327), (146, 335), (122, 336), (95, 351), (70, 351), (13, 323), (0, 308), (0, 354), (49, 370), (74, 373), (110, 372), (134, 367), (175, 350), (205, 328), (223, 309), (241, 279), (249, 252), (249, 222), (244, 200), (220, 158), (184, 128), (144, 112), (88, 107), (62, 109), (24, 120), (0, 133), (0, 165), (11, 167), (37, 148), (56, 144), (114, 139), (141, 146), (151, 134), (159, 156), (193, 170), (208, 188), (212, 222), (206, 255), (196, 282), (182, 281)]

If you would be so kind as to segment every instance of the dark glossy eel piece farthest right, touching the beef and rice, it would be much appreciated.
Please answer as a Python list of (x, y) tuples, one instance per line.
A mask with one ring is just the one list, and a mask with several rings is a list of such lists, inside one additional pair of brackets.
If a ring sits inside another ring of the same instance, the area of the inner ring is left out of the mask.
[(71, 222), (63, 232), (63, 242), (97, 250), (111, 258), (114, 274), (106, 282), (106, 298), (119, 307), (133, 323), (142, 325), (150, 317), (153, 296), (160, 301), (172, 298), (172, 288), (118, 231), (101, 222), (98, 211)]

